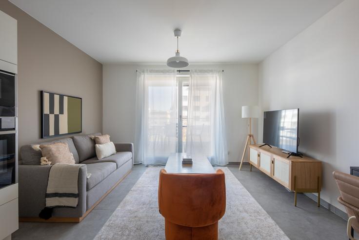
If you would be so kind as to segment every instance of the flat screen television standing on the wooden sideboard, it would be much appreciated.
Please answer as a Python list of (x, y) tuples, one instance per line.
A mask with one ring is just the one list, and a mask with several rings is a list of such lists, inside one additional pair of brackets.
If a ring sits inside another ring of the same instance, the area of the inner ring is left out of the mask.
[(263, 143), (298, 153), (299, 109), (265, 111)]

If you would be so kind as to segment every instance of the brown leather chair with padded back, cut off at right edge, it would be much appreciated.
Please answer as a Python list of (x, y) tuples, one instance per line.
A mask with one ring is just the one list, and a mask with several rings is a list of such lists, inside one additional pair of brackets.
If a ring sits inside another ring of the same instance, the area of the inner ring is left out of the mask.
[(359, 233), (359, 177), (338, 171), (334, 171), (333, 176), (340, 192), (338, 201), (344, 205), (349, 217), (347, 234), (354, 240), (352, 228)]

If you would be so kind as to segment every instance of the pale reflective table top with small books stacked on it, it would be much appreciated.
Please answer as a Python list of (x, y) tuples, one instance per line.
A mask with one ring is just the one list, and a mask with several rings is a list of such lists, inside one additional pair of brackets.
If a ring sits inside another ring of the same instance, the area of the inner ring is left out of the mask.
[(193, 155), (193, 164), (182, 164), (186, 153), (171, 153), (164, 169), (170, 174), (214, 174), (215, 169), (204, 155)]

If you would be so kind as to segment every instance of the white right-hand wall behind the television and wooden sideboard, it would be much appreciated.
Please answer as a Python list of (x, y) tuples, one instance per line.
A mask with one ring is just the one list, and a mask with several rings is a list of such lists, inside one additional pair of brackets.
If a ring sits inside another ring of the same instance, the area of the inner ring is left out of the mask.
[(332, 172), (359, 165), (358, 89), (358, 0), (343, 1), (259, 65), (259, 105), (300, 109), (299, 151), (323, 161), (321, 197), (342, 210)]

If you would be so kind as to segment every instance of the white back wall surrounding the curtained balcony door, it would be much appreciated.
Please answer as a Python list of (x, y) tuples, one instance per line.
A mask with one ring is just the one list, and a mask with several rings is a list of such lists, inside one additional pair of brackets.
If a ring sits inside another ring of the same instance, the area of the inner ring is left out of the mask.
[[(135, 141), (136, 69), (165, 65), (103, 65), (103, 132), (115, 142)], [(223, 101), (230, 162), (239, 161), (247, 134), (242, 105), (258, 104), (258, 65), (190, 65), (188, 69), (223, 69)], [(257, 136), (257, 121), (254, 134)]]

